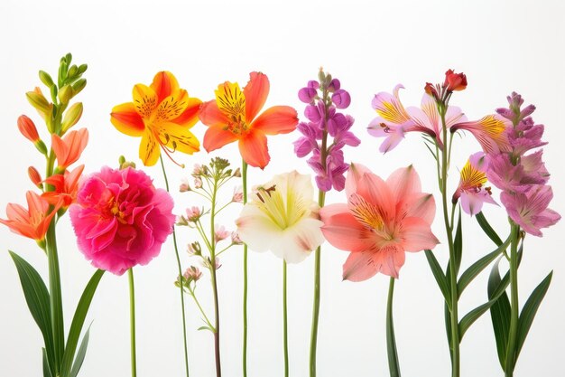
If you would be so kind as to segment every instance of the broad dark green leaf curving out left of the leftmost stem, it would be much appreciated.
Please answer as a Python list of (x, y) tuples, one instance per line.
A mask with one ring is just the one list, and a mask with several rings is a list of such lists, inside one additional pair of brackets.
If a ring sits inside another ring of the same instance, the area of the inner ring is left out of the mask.
[[(42, 332), (47, 365), (52, 368), (54, 355), (49, 291), (47, 290), (42, 277), (36, 269), (33, 269), (31, 264), (14, 253), (14, 251), (9, 251), (9, 253), (12, 259), (14, 259), (15, 268), (17, 269), (20, 277), (25, 302), (30, 309), (30, 313), (35, 320), (35, 323)], [(45, 363), (43, 364), (45, 365)], [(50, 370), (50, 373), (51, 375), (53, 374), (52, 369)]]

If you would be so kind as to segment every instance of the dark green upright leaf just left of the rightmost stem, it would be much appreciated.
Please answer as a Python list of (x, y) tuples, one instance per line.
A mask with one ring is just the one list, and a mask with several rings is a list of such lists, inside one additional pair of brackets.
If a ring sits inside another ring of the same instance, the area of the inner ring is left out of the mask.
[[(500, 257), (496, 260), (493, 269), (490, 271), (490, 276), (488, 277), (488, 286), (486, 291), (488, 292), (488, 298), (496, 296), (496, 291), (499, 291), (501, 287), (508, 287), (509, 275), (505, 275), (505, 284), (503, 284), (500, 279), (500, 273), (498, 271), (498, 264), (500, 263)], [(490, 307), (490, 317), (493, 323), (493, 329), (495, 332), (496, 340), (496, 353), (498, 353), (498, 361), (502, 369), (505, 369), (506, 365), (506, 347), (508, 346), (508, 332), (510, 331), (510, 300), (506, 292), (503, 292), (498, 297), (496, 303)]]

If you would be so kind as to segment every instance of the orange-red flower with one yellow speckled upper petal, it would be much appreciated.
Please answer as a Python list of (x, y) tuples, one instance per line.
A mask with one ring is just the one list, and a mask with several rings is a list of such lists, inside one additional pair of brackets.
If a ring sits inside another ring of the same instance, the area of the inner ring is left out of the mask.
[(271, 158), (266, 135), (292, 132), (298, 116), (294, 108), (273, 106), (257, 117), (269, 94), (269, 79), (260, 72), (249, 76), (243, 91), (237, 83), (218, 85), (216, 100), (202, 104), (199, 118), (208, 126), (204, 135), (208, 152), (237, 140), (245, 163), (263, 169)]

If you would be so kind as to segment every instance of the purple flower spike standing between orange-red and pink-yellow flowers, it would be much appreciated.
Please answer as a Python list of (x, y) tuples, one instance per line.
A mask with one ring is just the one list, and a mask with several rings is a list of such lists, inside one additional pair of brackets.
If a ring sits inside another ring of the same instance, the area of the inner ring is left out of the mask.
[(319, 80), (310, 80), (298, 92), (298, 98), (308, 104), (304, 109), (308, 121), (298, 124), (302, 137), (294, 142), (294, 153), (299, 157), (311, 154), (307, 162), (316, 173), (316, 184), (321, 191), (328, 192), (332, 187), (341, 191), (349, 167), (341, 149), (358, 146), (361, 140), (349, 131), (354, 118), (338, 112), (351, 103), (347, 90), (341, 89), (338, 79), (321, 70)]

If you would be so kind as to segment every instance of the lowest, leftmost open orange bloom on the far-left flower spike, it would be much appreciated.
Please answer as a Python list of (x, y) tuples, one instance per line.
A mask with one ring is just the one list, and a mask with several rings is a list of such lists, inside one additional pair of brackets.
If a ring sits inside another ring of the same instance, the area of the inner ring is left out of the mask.
[(28, 191), (25, 194), (28, 209), (20, 204), (8, 203), (6, 216), (8, 220), (0, 219), (14, 233), (32, 240), (41, 241), (51, 223), (51, 219), (57, 213), (61, 203), (57, 203), (50, 212), (50, 204), (37, 193)]

